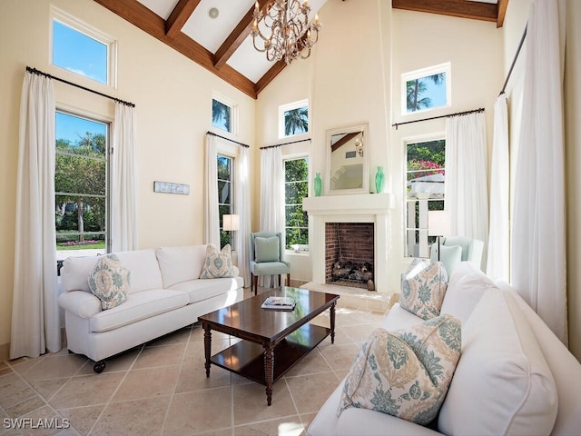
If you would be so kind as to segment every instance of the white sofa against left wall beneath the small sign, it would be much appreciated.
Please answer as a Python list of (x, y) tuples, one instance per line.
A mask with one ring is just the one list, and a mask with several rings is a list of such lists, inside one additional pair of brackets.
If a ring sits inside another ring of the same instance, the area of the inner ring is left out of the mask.
[(200, 279), (206, 245), (161, 247), (115, 253), (130, 270), (125, 302), (103, 311), (88, 285), (99, 256), (69, 257), (61, 268), (59, 305), (64, 309), (69, 352), (104, 359), (198, 321), (198, 316), (243, 298), (243, 280)]

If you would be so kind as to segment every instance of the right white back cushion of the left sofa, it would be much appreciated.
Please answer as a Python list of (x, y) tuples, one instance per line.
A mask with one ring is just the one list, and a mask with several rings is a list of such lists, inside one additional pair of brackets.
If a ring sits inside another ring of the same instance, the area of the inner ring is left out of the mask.
[(163, 287), (175, 283), (199, 279), (206, 262), (205, 245), (183, 247), (160, 247), (155, 250), (157, 262), (162, 271)]

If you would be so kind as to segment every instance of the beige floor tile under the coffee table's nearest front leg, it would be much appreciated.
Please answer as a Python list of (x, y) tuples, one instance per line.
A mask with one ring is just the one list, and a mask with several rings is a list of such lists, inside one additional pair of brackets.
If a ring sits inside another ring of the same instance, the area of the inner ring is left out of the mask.
[(272, 387), (272, 401), (266, 401), (266, 387), (259, 383), (232, 386), (234, 398), (234, 425), (292, 416), (297, 410), (283, 379)]

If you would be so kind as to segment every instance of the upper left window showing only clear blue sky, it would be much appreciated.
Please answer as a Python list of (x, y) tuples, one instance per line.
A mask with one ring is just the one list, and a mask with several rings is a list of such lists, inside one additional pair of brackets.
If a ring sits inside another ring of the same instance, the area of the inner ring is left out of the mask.
[(53, 10), (52, 63), (101, 84), (114, 86), (115, 42), (74, 17)]

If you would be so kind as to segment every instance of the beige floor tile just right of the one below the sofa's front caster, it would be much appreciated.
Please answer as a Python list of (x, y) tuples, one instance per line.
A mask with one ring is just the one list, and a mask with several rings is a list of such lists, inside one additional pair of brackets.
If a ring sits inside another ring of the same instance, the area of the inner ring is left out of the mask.
[(112, 401), (171, 395), (175, 388), (180, 365), (146, 368), (127, 372)]

